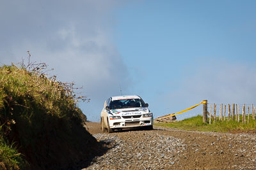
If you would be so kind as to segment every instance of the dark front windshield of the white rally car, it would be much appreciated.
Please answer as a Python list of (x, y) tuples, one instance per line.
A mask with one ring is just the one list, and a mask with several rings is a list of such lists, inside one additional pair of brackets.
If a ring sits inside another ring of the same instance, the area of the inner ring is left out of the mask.
[(145, 107), (145, 103), (141, 99), (124, 99), (111, 101), (109, 108), (111, 110), (123, 108), (141, 108)]

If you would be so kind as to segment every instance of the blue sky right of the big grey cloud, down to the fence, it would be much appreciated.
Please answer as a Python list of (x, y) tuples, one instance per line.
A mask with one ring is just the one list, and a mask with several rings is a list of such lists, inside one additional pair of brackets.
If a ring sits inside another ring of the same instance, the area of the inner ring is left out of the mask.
[[(255, 80), (248, 74), (255, 73), (250, 70), (256, 59), (255, 2), (159, 2), (118, 10), (115, 42), (136, 84), (132, 90), (147, 97), (156, 115), (176, 113), (202, 99), (253, 103)], [(201, 110), (198, 106), (177, 117)]]

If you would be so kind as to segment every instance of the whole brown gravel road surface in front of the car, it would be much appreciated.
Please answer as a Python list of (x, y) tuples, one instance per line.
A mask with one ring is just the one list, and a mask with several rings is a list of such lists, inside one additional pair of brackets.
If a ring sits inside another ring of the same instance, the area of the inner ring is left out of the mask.
[(107, 134), (99, 123), (87, 125), (109, 150), (86, 169), (256, 169), (255, 134), (162, 127)]

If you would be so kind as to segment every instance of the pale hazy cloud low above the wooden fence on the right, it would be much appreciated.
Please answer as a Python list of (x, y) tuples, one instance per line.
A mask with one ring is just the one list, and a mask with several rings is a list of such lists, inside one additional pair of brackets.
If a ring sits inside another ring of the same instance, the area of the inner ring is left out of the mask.
[[(175, 113), (189, 108), (202, 100), (208, 103), (223, 104), (256, 104), (256, 69), (253, 64), (232, 62), (228, 60), (205, 60), (198, 62), (195, 74), (177, 83), (176, 90), (170, 90), (156, 98), (156, 106), (169, 108)], [(161, 101), (161, 104), (159, 102)], [(155, 108), (156, 108), (155, 106)], [(159, 110), (160, 111), (160, 110)], [(157, 116), (164, 113), (157, 112)], [(163, 111), (163, 110), (161, 110)], [(182, 113), (179, 119), (188, 118), (202, 113), (202, 107)]]

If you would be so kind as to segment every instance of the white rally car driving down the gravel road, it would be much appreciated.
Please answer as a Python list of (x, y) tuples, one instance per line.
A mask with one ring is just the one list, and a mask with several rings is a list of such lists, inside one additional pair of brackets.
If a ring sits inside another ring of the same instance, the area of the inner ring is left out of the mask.
[(153, 129), (153, 113), (140, 96), (115, 96), (104, 103), (100, 115), (102, 131), (143, 127)]

